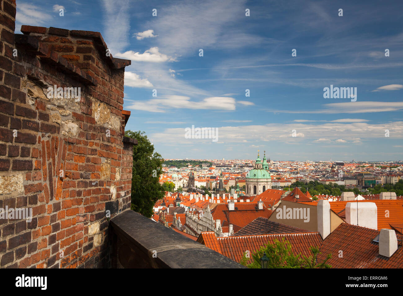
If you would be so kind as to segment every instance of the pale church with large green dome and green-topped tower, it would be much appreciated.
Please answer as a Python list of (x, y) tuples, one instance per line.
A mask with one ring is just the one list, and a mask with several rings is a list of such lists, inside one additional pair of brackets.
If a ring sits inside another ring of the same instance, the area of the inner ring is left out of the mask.
[(263, 161), (259, 157), (255, 162), (255, 168), (246, 174), (246, 196), (255, 196), (272, 188), (272, 177), (270, 176), (269, 164), (264, 151)]

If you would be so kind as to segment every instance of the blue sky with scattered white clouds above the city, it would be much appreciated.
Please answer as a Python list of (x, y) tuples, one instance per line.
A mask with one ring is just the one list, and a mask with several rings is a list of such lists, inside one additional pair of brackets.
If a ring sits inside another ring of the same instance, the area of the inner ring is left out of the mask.
[[(23, 24), (101, 32), (114, 57), (132, 60), (126, 129), (145, 131), (165, 158), (253, 159), (260, 149), (278, 160), (401, 160), (402, 9), (402, 1), (17, 0), (16, 33)], [(330, 85), (357, 87), (357, 100), (325, 99)], [(218, 128), (218, 141), (186, 139), (192, 125)]]

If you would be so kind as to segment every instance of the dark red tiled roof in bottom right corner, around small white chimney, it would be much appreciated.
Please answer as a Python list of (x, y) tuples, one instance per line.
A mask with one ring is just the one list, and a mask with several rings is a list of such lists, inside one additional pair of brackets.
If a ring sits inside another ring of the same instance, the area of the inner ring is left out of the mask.
[(403, 247), (398, 246), (390, 258), (379, 255), (379, 244), (372, 241), (378, 234), (378, 230), (342, 223), (324, 239), (318, 262), (332, 254), (327, 263), (333, 268), (402, 268)]

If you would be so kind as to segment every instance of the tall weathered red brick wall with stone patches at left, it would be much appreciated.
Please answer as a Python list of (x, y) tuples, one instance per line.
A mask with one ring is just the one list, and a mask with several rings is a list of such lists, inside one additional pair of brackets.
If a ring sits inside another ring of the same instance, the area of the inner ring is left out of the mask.
[(15, 0), (0, 14), (0, 267), (110, 267), (109, 218), (131, 203), (131, 61), (98, 32), (14, 34)]

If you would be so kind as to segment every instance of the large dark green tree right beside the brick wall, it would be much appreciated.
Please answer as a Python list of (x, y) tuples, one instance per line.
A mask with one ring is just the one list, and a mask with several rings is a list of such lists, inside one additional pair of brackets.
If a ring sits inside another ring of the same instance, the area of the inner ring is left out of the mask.
[(154, 151), (154, 145), (151, 145), (145, 132), (126, 130), (125, 137), (138, 141), (138, 145), (133, 145), (131, 209), (151, 217), (154, 204), (164, 197), (164, 187), (158, 182), (164, 159)]

